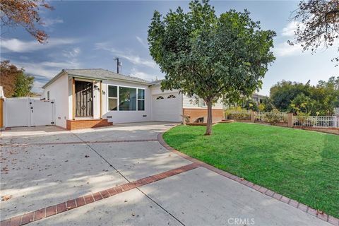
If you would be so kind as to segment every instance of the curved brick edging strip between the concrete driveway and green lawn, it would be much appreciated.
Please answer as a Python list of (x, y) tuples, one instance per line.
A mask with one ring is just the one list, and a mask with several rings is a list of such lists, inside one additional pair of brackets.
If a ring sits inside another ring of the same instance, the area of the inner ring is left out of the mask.
[(202, 162), (200, 160), (197, 160), (194, 157), (191, 157), (191, 156), (186, 155), (186, 154), (184, 154), (182, 152), (179, 152), (179, 150), (176, 150), (176, 149), (172, 148), (171, 146), (169, 146), (165, 142), (164, 138), (162, 138), (162, 135), (163, 135), (163, 133), (158, 133), (157, 141), (159, 141), (159, 143), (164, 148), (166, 148), (167, 150), (170, 150), (173, 153), (176, 153), (177, 155), (179, 155), (181, 157), (184, 157), (186, 160), (194, 162), (197, 165), (200, 165), (201, 167), (205, 167), (206, 169), (210, 169), (211, 171), (213, 171), (213, 172), (215, 172), (217, 174), (220, 174), (220, 175), (222, 175), (224, 177), (227, 177), (229, 179), (232, 179), (232, 180), (234, 180), (236, 182), (239, 182), (240, 184), (244, 184), (245, 186), (248, 186), (251, 189), (254, 189), (256, 191), (259, 191), (262, 194), (265, 194), (266, 196), (270, 196), (272, 198), (277, 199), (278, 201), (281, 201), (283, 203), (287, 203), (288, 205), (293, 206), (295, 208), (298, 208), (299, 210), (302, 210), (302, 211), (304, 211), (306, 213), (309, 213), (310, 215), (314, 215), (315, 217), (317, 217), (317, 218), (319, 218), (321, 220), (324, 220), (326, 222), (329, 222), (332, 225), (339, 226), (339, 219), (338, 218), (335, 218), (335, 217), (333, 217), (331, 215), (327, 215), (326, 213), (323, 213), (323, 212), (321, 212), (319, 210), (316, 210), (316, 209), (311, 208), (309, 206), (306, 206), (306, 205), (304, 205), (302, 203), (299, 203), (298, 201), (296, 201), (294, 199), (287, 198), (286, 196), (278, 194), (275, 191), (271, 191), (270, 189), (266, 189), (263, 186), (259, 186), (258, 184), (254, 184), (252, 182), (246, 181), (246, 179), (244, 179), (244, 178), (237, 177), (237, 176), (235, 176), (233, 174), (230, 174), (229, 172), (226, 172), (226, 171), (224, 171), (222, 169), (218, 169), (216, 167), (213, 167), (212, 165), (208, 165), (206, 162)]

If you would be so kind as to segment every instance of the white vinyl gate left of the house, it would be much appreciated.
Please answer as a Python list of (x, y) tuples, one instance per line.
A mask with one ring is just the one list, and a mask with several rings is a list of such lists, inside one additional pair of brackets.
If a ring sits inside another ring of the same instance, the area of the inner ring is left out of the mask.
[(4, 113), (6, 127), (54, 125), (54, 101), (6, 98)]

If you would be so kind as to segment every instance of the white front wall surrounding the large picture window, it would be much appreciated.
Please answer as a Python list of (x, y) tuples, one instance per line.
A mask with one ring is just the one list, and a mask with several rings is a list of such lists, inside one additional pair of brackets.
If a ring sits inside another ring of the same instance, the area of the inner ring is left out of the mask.
[[(109, 111), (108, 110), (108, 85), (120, 85), (132, 88), (144, 88), (145, 89), (145, 110), (144, 111)], [(129, 82), (121, 82), (121, 81), (103, 81), (102, 82), (102, 90), (105, 92), (105, 95), (102, 95), (102, 118), (106, 119), (108, 117), (108, 121), (112, 121), (113, 124), (119, 124), (124, 122), (137, 122), (137, 121), (151, 121), (151, 102), (152, 95), (150, 93), (150, 88), (148, 85), (138, 84), (138, 83), (129, 83)], [(99, 100), (100, 102), (100, 100)], [(100, 107), (100, 106), (99, 106)], [(100, 108), (99, 108), (100, 110)]]

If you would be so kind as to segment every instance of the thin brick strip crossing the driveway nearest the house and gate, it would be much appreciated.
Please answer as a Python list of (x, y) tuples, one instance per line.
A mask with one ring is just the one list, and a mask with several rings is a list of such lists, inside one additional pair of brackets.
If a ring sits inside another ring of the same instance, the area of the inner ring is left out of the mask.
[[(138, 140), (115, 140), (115, 141), (85, 141), (85, 143), (124, 143), (124, 142), (148, 142), (157, 141), (157, 139), (138, 139)], [(18, 147), (29, 147), (36, 145), (64, 145), (64, 144), (85, 144), (83, 141), (71, 141), (71, 142), (51, 142), (51, 143), (13, 143), (13, 144), (0, 144), (3, 148), (18, 148)]]

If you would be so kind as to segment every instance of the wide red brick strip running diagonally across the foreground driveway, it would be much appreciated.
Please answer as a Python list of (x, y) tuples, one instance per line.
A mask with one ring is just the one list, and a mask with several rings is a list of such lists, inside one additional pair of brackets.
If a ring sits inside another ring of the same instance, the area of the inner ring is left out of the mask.
[(86, 196), (81, 196), (78, 198), (71, 199), (69, 201), (66, 201), (64, 203), (59, 203), (54, 206), (49, 206), (47, 208), (42, 208), (40, 210), (35, 210), (29, 213), (25, 213), (23, 215), (18, 215), (13, 218), (9, 218), (6, 220), (2, 220), (0, 222), (0, 226), (20, 226), (20, 225), (26, 225), (30, 222), (34, 222), (37, 220), (41, 220), (43, 218), (48, 218), (52, 215), (56, 215), (59, 213), (63, 213), (67, 210), (71, 210), (73, 208), (78, 208), (81, 206), (85, 206), (89, 203), (94, 203), (95, 201), (100, 201), (104, 198), (109, 198), (110, 196), (114, 196), (116, 194), (123, 193), (125, 191), (129, 191), (131, 189), (136, 189), (140, 186), (150, 184), (153, 182), (157, 182), (160, 179), (165, 179), (167, 177), (172, 177), (176, 174), (181, 174), (182, 172), (187, 172), (191, 169), (196, 169), (197, 167), (200, 167), (200, 165), (196, 163), (191, 163), (189, 165), (185, 165), (183, 167), (179, 167), (176, 169), (170, 169), (166, 172), (162, 172), (160, 174), (154, 174), (150, 177), (145, 177), (142, 179), (138, 179), (134, 182), (129, 182), (126, 184), (122, 184), (119, 186), (114, 186), (110, 189), (106, 189), (103, 191), (98, 191), (93, 194), (88, 194)]

